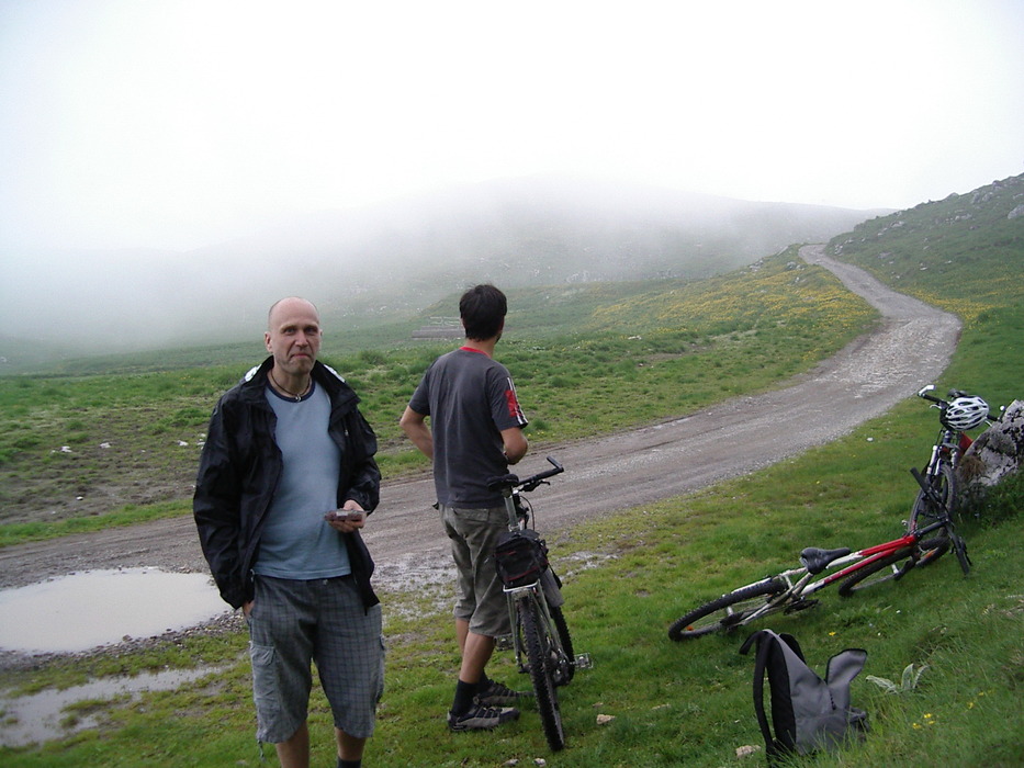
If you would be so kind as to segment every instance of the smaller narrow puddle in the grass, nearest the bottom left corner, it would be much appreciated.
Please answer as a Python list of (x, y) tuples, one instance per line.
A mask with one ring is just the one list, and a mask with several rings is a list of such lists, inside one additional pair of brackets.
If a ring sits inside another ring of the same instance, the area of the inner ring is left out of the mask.
[(65, 690), (45, 690), (32, 696), (0, 696), (0, 746), (19, 747), (70, 736), (99, 725), (97, 714), (88, 709), (66, 711), (81, 702), (106, 702), (138, 698), (144, 691), (173, 690), (185, 682), (223, 671), (223, 667), (175, 669), (94, 680)]

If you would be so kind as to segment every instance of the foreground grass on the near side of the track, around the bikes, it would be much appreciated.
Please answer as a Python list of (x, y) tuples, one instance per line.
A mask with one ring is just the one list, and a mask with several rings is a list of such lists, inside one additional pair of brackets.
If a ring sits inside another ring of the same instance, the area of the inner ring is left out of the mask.
[[(979, 392), (989, 384), (959, 362), (944, 384), (954, 382)], [(738, 747), (759, 742), (751, 659), (736, 653), (742, 636), (676, 644), (666, 637), (668, 623), (794, 563), (804, 545), (857, 546), (898, 533), (914, 494), (908, 458), (923, 461), (933, 428), (934, 416), (909, 400), (773, 468), (552, 540), (576, 648), (594, 660), (561, 692), (569, 746), (558, 755), (548, 753), (529, 707), (518, 723), (494, 734), (447, 733), (441, 719), (458, 664), (447, 610), (437, 607), (436, 595), (386, 596), (389, 688), (367, 765), (529, 765), (536, 757), (578, 767), (759, 764), (734, 756)], [(853, 686), (855, 704), (869, 713), (867, 742), (802, 765), (1020, 765), (1021, 490), (1001, 518), (964, 528), (975, 562), (969, 578), (948, 557), (874, 594), (847, 600), (826, 591), (815, 610), (772, 620), (773, 629), (799, 637), (819, 670), (843, 647), (869, 654)], [(257, 765), (244, 648), (243, 634), (195, 639), (143, 658), (98, 658), (26, 675), (26, 685), (40, 686), (133, 666), (228, 666), (211, 681), (146, 696), (140, 705), (83, 704), (70, 716), (99, 713), (100, 731), (40, 749), (0, 750), (0, 758), (12, 767)], [(913, 690), (886, 693), (867, 680), (898, 679), (908, 664), (927, 666)], [(516, 681), (507, 654), (493, 673)], [(314, 702), (314, 765), (328, 766), (329, 715), (322, 694)], [(598, 714), (614, 720), (598, 725)]]

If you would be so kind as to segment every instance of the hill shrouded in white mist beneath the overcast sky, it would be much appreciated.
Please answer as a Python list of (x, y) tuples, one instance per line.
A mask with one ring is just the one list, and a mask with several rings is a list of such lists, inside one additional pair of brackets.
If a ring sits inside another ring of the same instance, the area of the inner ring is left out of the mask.
[(268, 222), (188, 252), (5, 253), (0, 355), (251, 338), (290, 294), (351, 327), (483, 281), (704, 278), (880, 213), (534, 177)]

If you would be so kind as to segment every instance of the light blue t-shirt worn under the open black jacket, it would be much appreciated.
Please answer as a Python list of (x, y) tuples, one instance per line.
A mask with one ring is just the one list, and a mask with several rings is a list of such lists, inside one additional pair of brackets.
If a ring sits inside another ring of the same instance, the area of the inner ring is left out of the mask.
[(330, 436), (330, 398), (315, 384), (299, 400), (270, 386), (267, 400), (278, 417), (274, 440), (284, 467), (260, 534), (254, 572), (310, 580), (351, 573), (341, 534), (325, 520), (337, 508), (341, 451)]

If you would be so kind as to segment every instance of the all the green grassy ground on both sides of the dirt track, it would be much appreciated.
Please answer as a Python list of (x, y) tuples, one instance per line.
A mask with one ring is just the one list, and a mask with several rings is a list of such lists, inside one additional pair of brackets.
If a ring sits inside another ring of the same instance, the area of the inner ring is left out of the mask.
[[(977, 210), (970, 195), (920, 206), (865, 223), (830, 244), (840, 258), (898, 290), (958, 313), (963, 338), (935, 383), (969, 389), (993, 405), (1024, 396), (1024, 217), (1006, 217), (1020, 191), (1017, 184), (997, 195), (999, 208), (990, 203)], [(971, 216), (964, 218), (961, 210)], [(563, 286), (509, 298), (515, 310), (500, 357), (532, 418), (536, 456), (549, 442), (628, 429), (775, 386), (874, 321), (863, 302), (828, 272), (800, 262), (795, 249), (708, 281)], [(425, 316), (441, 314), (439, 307)], [(389, 476), (423, 466), (398, 439), (395, 422), (423, 368), (448, 348), (409, 343), (410, 327), (378, 329), (380, 345), (372, 349), (346, 348), (351, 342), (342, 340), (327, 349), (363, 397)], [(259, 352), (257, 343), (226, 348), (223, 360), (204, 366), (175, 368), (168, 353), (159, 370), (156, 361), (149, 371), (127, 370), (125, 362), (125, 370), (109, 374), (80, 363), (0, 380), (7, 422), (0, 430), (0, 487), (11, 494), (0, 506), (5, 515), (14, 510), (4, 541), (188, 513), (205, 414)], [(579, 768), (763, 765), (763, 753), (736, 755), (740, 747), (761, 745), (753, 663), (738, 654), (745, 633), (673, 643), (668, 624), (698, 602), (794, 565), (803, 546), (857, 547), (898, 535), (915, 495), (908, 470), (926, 460), (936, 430), (934, 411), (908, 393), (890, 413), (829, 445), (549, 537), (574, 644), (593, 659), (593, 668), (560, 691), (567, 747), (558, 754), (549, 753), (529, 705), (499, 731), (448, 733), (443, 715), (458, 666), (450, 586), (386, 595), (387, 691), (364, 764), (496, 767), (543, 758), (549, 766)], [(95, 448), (101, 442), (111, 448)], [(69, 452), (60, 450), (65, 445)], [(81, 495), (85, 504), (114, 472), (128, 475), (122, 488), (106, 492), (125, 496), (110, 509), (80, 513), (67, 498)], [(156, 495), (144, 487), (150, 476), (161, 478), (159, 498), (127, 498)], [(33, 495), (48, 499), (42, 528), (32, 519), (43, 509)], [(543, 519), (543, 493), (534, 496)], [(852, 689), (854, 704), (868, 712), (866, 742), (794, 765), (1024, 764), (1022, 502), (1019, 474), (965, 511), (969, 577), (946, 557), (848, 599), (824, 590), (814, 610), (769, 620), (776, 631), (795, 634), (821, 671), (842, 648), (868, 652)], [(37, 747), (0, 748), (0, 763), (260, 765), (245, 647), (244, 633), (228, 632), (11, 674), (10, 685), (30, 691), (146, 669), (226, 667), (176, 691), (145, 694), (140, 703), (82, 702), (67, 718), (97, 718), (97, 729)], [(867, 679), (899, 681), (911, 664), (924, 671), (905, 690), (889, 692)], [(493, 666), (505, 681), (528, 685), (507, 653)], [(599, 723), (598, 715), (611, 720)], [(329, 727), (317, 690), (314, 765), (334, 765)], [(266, 765), (277, 765), (271, 753)]]

